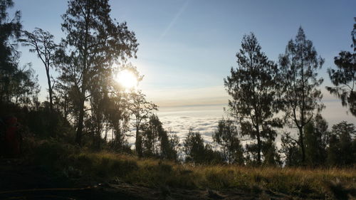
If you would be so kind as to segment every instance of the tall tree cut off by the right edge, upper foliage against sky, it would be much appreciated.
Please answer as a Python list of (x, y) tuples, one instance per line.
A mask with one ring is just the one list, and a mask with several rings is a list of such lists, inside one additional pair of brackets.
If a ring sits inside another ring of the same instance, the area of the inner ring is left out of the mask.
[(328, 68), (331, 83), (335, 87), (325, 88), (330, 94), (340, 98), (342, 106), (349, 107), (351, 114), (356, 117), (356, 23), (351, 36), (354, 52), (341, 51), (339, 56), (335, 56), (337, 70)]

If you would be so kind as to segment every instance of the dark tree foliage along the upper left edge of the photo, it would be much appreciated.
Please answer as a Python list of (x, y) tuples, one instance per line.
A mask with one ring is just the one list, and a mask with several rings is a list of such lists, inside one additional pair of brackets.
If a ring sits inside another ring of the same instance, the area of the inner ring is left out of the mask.
[(21, 14), (16, 11), (14, 19), (10, 19), (7, 9), (12, 6), (11, 0), (0, 1), (0, 102), (27, 107), (36, 101), (39, 89), (30, 64), (19, 68), (16, 47), (21, 36)]

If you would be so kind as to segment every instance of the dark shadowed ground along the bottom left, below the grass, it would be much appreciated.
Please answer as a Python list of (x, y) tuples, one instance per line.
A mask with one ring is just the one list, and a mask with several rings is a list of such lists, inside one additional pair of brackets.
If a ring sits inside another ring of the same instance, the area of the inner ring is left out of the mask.
[(21, 159), (0, 159), (0, 199), (293, 199), (271, 191), (147, 188), (112, 180), (58, 177)]

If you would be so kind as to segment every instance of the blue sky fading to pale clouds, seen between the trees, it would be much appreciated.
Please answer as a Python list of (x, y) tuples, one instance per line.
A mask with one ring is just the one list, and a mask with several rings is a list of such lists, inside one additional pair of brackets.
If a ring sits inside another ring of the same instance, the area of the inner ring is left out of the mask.
[[(61, 15), (67, 1), (14, 0), (22, 12), (23, 28), (43, 28), (64, 37)], [(325, 91), (331, 85), (327, 68), (335, 68), (333, 58), (340, 51), (351, 51), (350, 32), (356, 16), (356, 1), (213, 1), (213, 0), (111, 0), (111, 16), (127, 21), (140, 43), (137, 59), (130, 59), (144, 80), (140, 88), (159, 105), (164, 125), (186, 133), (189, 127), (201, 131), (206, 140), (216, 129), (217, 120), (227, 107), (229, 96), (224, 78), (236, 67), (236, 52), (244, 34), (256, 34), (262, 51), (271, 60), (285, 51), (298, 28), (313, 41), (325, 58), (319, 76), (326, 105), (322, 114), (330, 125), (341, 120), (355, 122), (340, 100)], [(36, 55), (24, 47), (21, 63), (33, 63), (46, 96), (46, 75)]]

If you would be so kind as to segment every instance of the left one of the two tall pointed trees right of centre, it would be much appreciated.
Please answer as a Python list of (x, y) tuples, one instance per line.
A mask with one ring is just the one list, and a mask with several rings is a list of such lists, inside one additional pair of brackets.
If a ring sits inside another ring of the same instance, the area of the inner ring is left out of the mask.
[(272, 127), (281, 127), (279, 120), (273, 118), (278, 111), (278, 68), (261, 52), (253, 33), (244, 36), (236, 57), (239, 67), (231, 68), (231, 75), (224, 79), (232, 98), (229, 107), (241, 124), (241, 134), (256, 140), (257, 162), (261, 164), (263, 139), (276, 137)]

